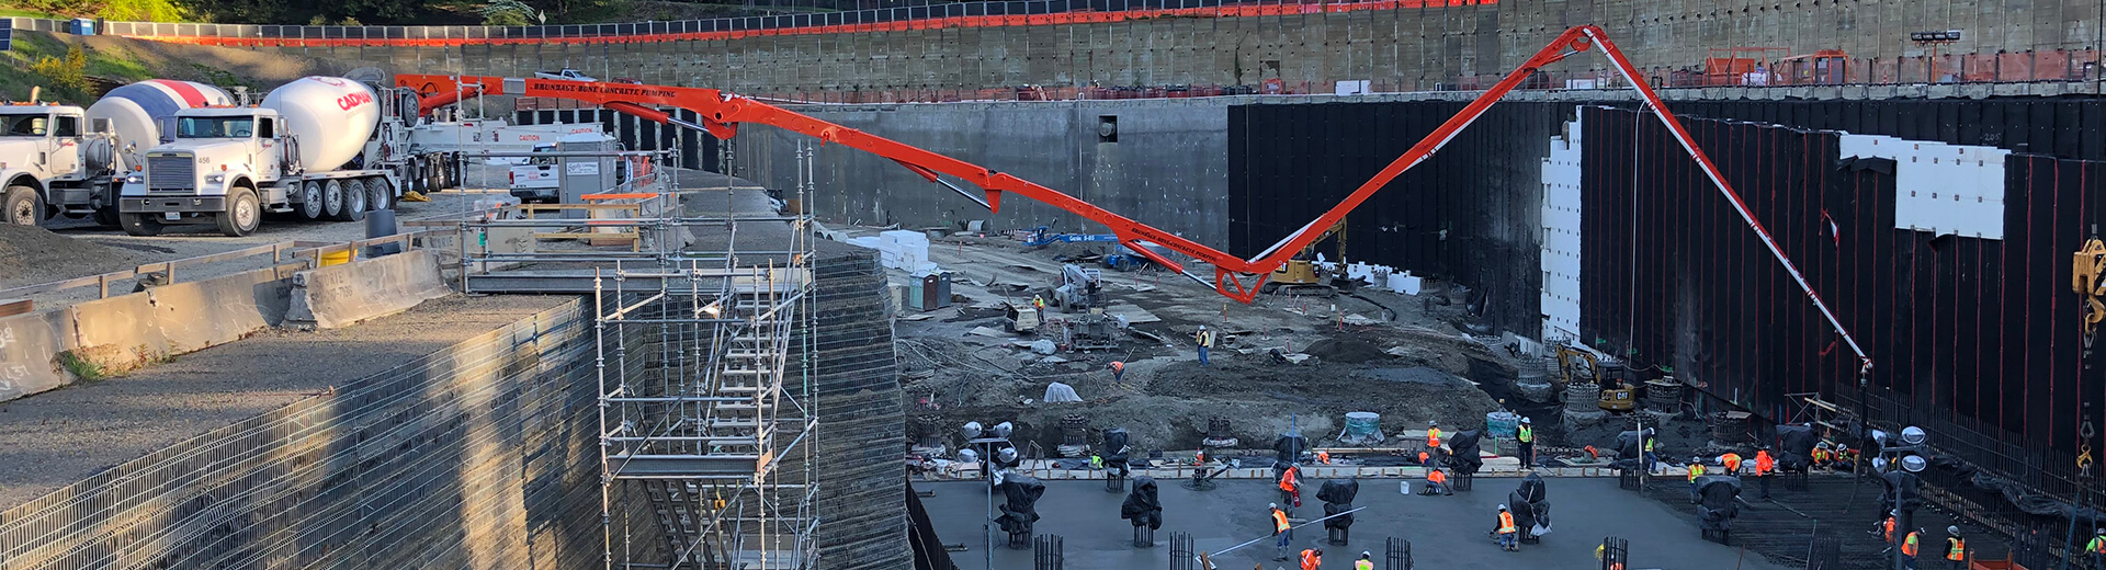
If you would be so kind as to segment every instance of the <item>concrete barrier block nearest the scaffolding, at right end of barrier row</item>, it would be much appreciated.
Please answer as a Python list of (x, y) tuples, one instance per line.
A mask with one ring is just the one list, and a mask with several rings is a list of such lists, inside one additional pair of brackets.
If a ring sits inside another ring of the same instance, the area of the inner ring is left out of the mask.
[(409, 311), (451, 292), (438, 273), (438, 255), (413, 250), (293, 273), (286, 320), (341, 328)]

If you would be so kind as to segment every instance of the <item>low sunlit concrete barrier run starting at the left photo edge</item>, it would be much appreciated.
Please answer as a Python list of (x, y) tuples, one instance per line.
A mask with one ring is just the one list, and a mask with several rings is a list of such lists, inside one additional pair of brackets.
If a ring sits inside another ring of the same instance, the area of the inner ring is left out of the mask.
[[(67, 385), (82, 372), (122, 374), (276, 326), (286, 315), (297, 267), (168, 284), (59, 311), (4, 318), (0, 402)], [(67, 370), (67, 360), (76, 362), (76, 370)]]

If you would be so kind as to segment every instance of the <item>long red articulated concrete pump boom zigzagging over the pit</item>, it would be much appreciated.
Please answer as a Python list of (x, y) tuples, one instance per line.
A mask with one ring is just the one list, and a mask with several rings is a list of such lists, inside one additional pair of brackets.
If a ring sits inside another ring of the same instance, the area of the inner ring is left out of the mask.
[[(1636, 67), (1632, 67), (1630, 61), (1624, 59), (1624, 53), (1617, 50), (1613, 42), (1609, 42), (1607, 34), (1603, 34), (1603, 29), (1594, 25), (1565, 29), (1565, 34), (1561, 34), (1548, 46), (1529, 57), (1529, 61), (1521, 63), (1521, 67), (1516, 67), (1512, 74), (1506, 74), (1506, 78), (1502, 78), (1497, 84), (1493, 84), (1474, 101), (1470, 101), (1468, 107), (1464, 107), (1459, 114), (1443, 122), (1441, 128), (1434, 128), (1432, 135), (1419, 139), (1417, 145), (1413, 145), (1409, 151), (1390, 162), (1390, 166), (1382, 168), (1382, 172), (1377, 172), (1373, 179), (1367, 179), (1367, 183), (1363, 183), (1358, 189), (1346, 196), (1344, 202), (1333, 206), (1323, 217), (1310, 221), (1295, 233), (1287, 236), (1278, 244), (1272, 244), (1272, 248), (1266, 248), (1253, 259), (1238, 259), (1234, 255), (1215, 250), (1211, 246), (1097, 208), (1095, 204), (1076, 200), (1074, 196), (1061, 194), (1057, 189), (1042, 187), (986, 166), (977, 166), (965, 160), (903, 145), (863, 130), (823, 122), (762, 101), (724, 95), (722, 90), (716, 88), (569, 82), (569, 80), (537, 80), (537, 78), (493, 78), (493, 76), (396, 76), (396, 84), (417, 88), (419, 93), (425, 95), (455, 93), (463, 84), (470, 84), (478, 86), (484, 95), (560, 97), (560, 99), (588, 101), (615, 111), (649, 118), (653, 122), (706, 130), (718, 139), (735, 137), (741, 122), (788, 128), (794, 133), (802, 133), (807, 137), (817, 137), (821, 143), (840, 143), (882, 158), (891, 158), (893, 162), (899, 162), (899, 166), (914, 170), (922, 179), (952, 187), (965, 194), (967, 198), (973, 198), (973, 202), (988, 206), (990, 210), (1000, 210), (1002, 194), (1015, 191), (1021, 194), (1024, 198), (1032, 198), (1049, 206), (1080, 215), (1085, 219), (1110, 227), (1112, 233), (1116, 233), (1122, 244), (1133, 248), (1133, 252), (1148, 257), (1150, 261), (1160, 263), (1163, 267), (1171, 267), (1192, 280), (1209, 284), (1217, 292), (1230, 299), (1251, 303), (1251, 299), (1257, 297), (1259, 286), (1264, 286), (1272, 269), (1278, 269), (1295, 252), (1320, 240), (1323, 229), (1337, 225), (1342, 219), (1346, 219), (1346, 212), (1358, 208), (1360, 202), (1367, 202), (1369, 196), (1388, 185), (1392, 179), (1396, 179), (1411, 166), (1417, 166), (1419, 162), (1426, 162), (1436, 151), (1441, 151), (1441, 147), (1447, 145), (1451, 139), (1455, 139), (1455, 135), (1462, 133), (1462, 128), (1470, 126), (1470, 122), (1474, 122), (1478, 116), (1485, 114), (1485, 109), (1489, 109), (1493, 103), (1512, 93), (1514, 86), (1518, 86), (1531, 74), (1535, 74), (1544, 65), (1563, 61), (1567, 57), (1586, 53), (1596, 46), (1601, 48), (1603, 55), (1609, 57), (1609, 61), (1615, 65), (1615, 72), (1624, 76), (1624, 82), (1630, 84), (1630, 88), (1638, 90), (1638, 95), (1645, 99), (1645, 107), (1651, 109), (1653, 116), (1660, 118), (1660, 122), (1666, 124), (1670, 133), (1674, 133), (1674, 139), (1683, 145), (1685, 151), (1689, 151), (1689, 158), (1693, 158), (1700, 166), (1704, 166), (1704, 175), (1710, 177), (1710, 181), (1718, 187), (1718, 194), (1723, 194), (1727, 202), (1733, 204), (1733, 210), (1740, 212), (1740, 219), (1748, 223), (1748, 229), (1754, 229), (1754, 233), (1763, 240), (1763, 246), (1767, 246), (1769, 252), (1777, 259), (1777, 263), (1784, 265), (1784, 271), (1788, 271), (1792, 280), (1799, 282), (1799, 288), (1805, 290), (1809, 301), (1813, 301), (1813, 307), (1820, 309), (1824, 318), (1828, 318), (1828, 326), (1832, 326), (1836, 334), (1843, 337), (1843, 343), (1847, 343), (1849, 349), (1857, 353), (1862, 368), (1868, 370), (1872, 366), (1872, 360), (1870, 355), (1864, 353), (1864, 347), (1857, 345), (1857, 339), (1849, 334), (1843, 322), (1836, 320), (1834, 311), (1828, 309), (1828, 303), (1824, 303), (1822, 297), (1813, 290), (1813, 286), (1807, 284), (1805, 273), (1801, 273), (1799, 267), (1792, 265), (1792, 259), (1786, 257), (1782, 248), (1777, 248), (1777, 242), (1769, 236), (1769, 229), (1765, 229), (1763, 223), (1754, 219), (1754, 212), (1748, 210), (1748, 206), (1740, 200), (1740, 194), (1735, 194), (1733, 187), (1725, 181), (1725, 177), (1718, 172), (1718, 166), (1714, 166), (1712, 160), (1704, 156), (1702, 149), (1697, 149), (1695, 141), (1689, 139), (1689, 130), (1685, 130), (1683, 124), (1674, 120), (1674, 114), (1670, 114), (1666, 103), (1660, 101), (1660, 95), (1653, 93), (1651, 86), (1638, 80)], [(665, 111), (653, 109), (655, 105), (695, 111), (701, 118), (701, 124), (691, 124), (672, 118)], [(948, 181), (941, 179), (941, 175), (958, 177), (967, 183), (981, 187), (986, 191), (986, 200), (979, 200), (958, 189), (956, 185), (950, 185)], [(1141, 242), (1154, 242), (1175, 252), (1188, 255), (1200, 263), (1213, 265), (1213, 282), (1194, 276), (1192, 271), (1186, 271), (1181, 263), (1165, 259), (1163, 255), (1141, 246)]]

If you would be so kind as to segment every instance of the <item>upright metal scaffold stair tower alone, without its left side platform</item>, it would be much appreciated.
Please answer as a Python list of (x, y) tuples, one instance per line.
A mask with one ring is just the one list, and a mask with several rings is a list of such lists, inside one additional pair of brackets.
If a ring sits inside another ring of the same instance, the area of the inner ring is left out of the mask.
[[(592, 278), (607, 568), (809, 568), (811, 221), (663, 210), (638, 223), (697, 227), (722, 248), (617, 261)], [(786, 223), (788, 244), (748, 238), (762, 244), (741, 252), (741, 225)]]

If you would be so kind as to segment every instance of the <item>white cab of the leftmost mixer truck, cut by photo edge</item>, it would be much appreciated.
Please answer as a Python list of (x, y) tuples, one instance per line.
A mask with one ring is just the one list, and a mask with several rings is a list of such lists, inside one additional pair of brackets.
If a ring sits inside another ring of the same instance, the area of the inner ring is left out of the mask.
[(84, 217), (110, 200), (105, 189), (116, 172), (107, 122), (99, 124), (101, 130), (88, 130), (88, 111), (74, 105), (0, 105), (0, 204), (6, 223)]

